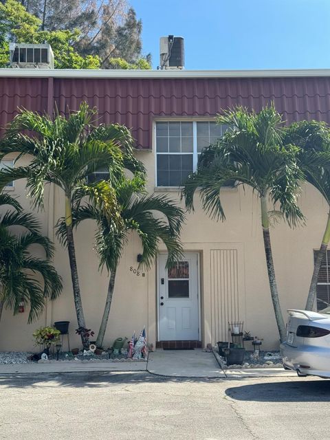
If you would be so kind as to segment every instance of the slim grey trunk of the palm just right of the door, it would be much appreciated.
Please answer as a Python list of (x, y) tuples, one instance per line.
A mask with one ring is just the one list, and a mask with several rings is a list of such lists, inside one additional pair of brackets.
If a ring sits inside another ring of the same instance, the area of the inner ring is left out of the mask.
[(274, 261), (272, 255), (272, 243), (270, 241), (270, 221), (268, 218), (266, 196), (261, 196), (261, 221), (263, 225), (263, 244), (265, 246), (268, 279), (270, 281), (270, 295), (272, 296), (272, 303), (274, 307), (278, 333), (280, 334), (281, 342), (283, 342), (286, 338), (286, 331), (276, 284)]

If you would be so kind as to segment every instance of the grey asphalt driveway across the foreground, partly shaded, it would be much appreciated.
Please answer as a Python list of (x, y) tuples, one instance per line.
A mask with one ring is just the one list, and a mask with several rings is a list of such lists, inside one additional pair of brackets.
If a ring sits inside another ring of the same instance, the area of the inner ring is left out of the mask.
[(0, 439), (328, 440), (330, 380), (0, 377)]

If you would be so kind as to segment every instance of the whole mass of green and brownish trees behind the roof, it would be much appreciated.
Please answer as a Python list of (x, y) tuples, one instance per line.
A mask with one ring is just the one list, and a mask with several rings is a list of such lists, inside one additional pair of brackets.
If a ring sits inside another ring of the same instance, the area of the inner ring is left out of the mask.
[[(43, 8), (46, 6), (46, 14)], [(124, 0), (102, 8), (86, 1), (0, 2), (0, 67), (9, 62), (9, 41), (49, 43), (58, 69), (150, 69), (141, 57), (142, 23), (124, 12)], [(124, 19), (124, 23), (119, 23)]]

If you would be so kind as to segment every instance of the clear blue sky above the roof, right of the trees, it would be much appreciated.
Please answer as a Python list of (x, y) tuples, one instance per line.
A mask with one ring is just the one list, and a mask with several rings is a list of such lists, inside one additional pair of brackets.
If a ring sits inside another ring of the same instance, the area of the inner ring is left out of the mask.
[(143, 50), (185, 40), (186, 69), (330, 68), (330, 0), (131, 0)]

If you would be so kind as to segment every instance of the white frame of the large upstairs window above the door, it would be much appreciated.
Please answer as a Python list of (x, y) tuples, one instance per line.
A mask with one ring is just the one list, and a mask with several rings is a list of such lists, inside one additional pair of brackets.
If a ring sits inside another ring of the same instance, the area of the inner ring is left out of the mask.
[[(157, 153), (157, 122), (192, 122), (192, 153)], [(200, 152), (197, 146), (197, 122), (217, 122), (215, 118), (155, 118), (153, 120), (153, 151), (155, 151), (155, 188), (181, 188), (181, 186), (159, 186), (157, 182), (157, 155), (192, 155), (192, 172), (197, 170), (198, 156)], [(232, 187), (231, 187), (232, 188)]]

